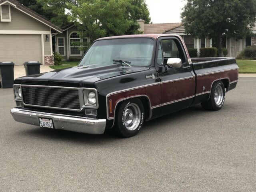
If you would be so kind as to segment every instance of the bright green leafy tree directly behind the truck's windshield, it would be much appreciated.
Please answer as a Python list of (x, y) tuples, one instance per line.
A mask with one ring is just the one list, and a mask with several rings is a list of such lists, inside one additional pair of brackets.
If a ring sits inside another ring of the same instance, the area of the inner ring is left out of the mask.
[(70, 5), (70, 20), (92, 40), (124, 35), (133, 23), (127, 16), (128, 0), (78, 0), (78, 3), (79, 6)]

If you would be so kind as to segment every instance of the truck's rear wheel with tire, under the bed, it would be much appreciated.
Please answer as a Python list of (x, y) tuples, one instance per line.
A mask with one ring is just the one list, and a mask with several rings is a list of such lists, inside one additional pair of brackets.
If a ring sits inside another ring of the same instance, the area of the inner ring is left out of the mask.
[(222, 81), (217, 81), (212, 85), (210, 99), (202, 102), (201, 105), (206, 110), (218, 111), (222, 108), (225, 101), (225, 88)]

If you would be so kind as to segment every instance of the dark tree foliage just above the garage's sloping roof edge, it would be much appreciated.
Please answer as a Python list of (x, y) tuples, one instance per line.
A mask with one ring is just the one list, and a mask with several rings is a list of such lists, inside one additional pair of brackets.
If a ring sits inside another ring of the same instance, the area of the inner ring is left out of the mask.
[(34, 12), (42, 15), (48, 20), (52, 20), (52, 18), (57, 16), (57, 14), (54, 14), (54, 12), (52, 12), (51, 10), (44, 10), (42, 4), (40, 4), (40, 2), (37, 2), (36, 0), (18, 0), (18, 2), (30, 8)]

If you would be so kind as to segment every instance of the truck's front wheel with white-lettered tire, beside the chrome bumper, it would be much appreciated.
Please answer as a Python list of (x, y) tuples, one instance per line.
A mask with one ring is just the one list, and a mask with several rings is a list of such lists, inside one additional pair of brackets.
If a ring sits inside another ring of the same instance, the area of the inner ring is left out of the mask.
[(115, 128), (123, 137), (135, 136), (144, 124), (144, 116), (144, 107), (139, 99), (126, 100), (118, 107)]

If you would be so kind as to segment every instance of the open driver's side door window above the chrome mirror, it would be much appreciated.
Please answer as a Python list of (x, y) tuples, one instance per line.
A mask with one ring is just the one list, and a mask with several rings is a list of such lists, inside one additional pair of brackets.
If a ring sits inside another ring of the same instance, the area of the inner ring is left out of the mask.
[(185, 62), (180, 44), (177, 43), (177, 40), (172, 39), (161, 40), (164, 64), (167, 63), (169, 58), (180, 58), (182, 63)]

